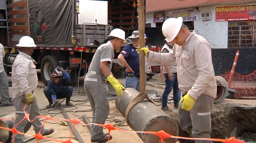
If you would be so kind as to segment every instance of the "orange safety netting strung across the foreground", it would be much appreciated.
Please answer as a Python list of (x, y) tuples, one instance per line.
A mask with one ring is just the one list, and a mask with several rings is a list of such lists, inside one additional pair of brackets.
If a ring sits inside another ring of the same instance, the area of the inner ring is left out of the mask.
[[(29, 114), (25, 112), (25, 108), (26, 108), (26, 106), (24, 107), (25, 117), (23, 118), (23, 120), (26, 119), (26, 120), (28, 120), (29, 122), (33, 122), (34, 120), (33, 120), (33, 121), (30, 121), (30, 119), (29, 119)], [(39, 141), (40, 139), (49, 139), (49, 140), (51, 140), (51, 141), (60, 142), (60, 143), (73, 143), (73, 142), (71, 141), (71, 136), (72, 136), (72, 134), (73, 134), (75, 125), (76, 125), (76, 124), (83, 124), (83, 125), (85, 125), (85, 126), (89, 125), (89, 124), (85, 124), (85, 123), (79, 121), (78, 119), (53, 119), (53, 118), (51, 118), (50, 116), (45, 116), (45, 115), (41, 115), (41, 116), (38, 116), (38, 117), (36, 117), (36, 118), (41, 118), (41, 117), (44, 117), (44, 118), (45, 118), (45, 121), (44, 121), (44, 123), (43, 123), (43, 126), (44, 126), (44, 124), (45, 124), (45, 122), (46, 122), (47, 120), (54, 120), (54, 121), (65, 120), (65, 121), (70, 121), (70, 122), (72, 122), (74, 126), (73, 126), (73, 129), (72, 129), (72, 133), (70, 134), (69, 140), (67, 140), (67, 141), (61, 141), (61, 140), (57, 140), (57, 139), (52, 139), (52, 138), (44, 137), (44, 136), (42, 136), (42, 134), (41, 134), (41, 130), (40, 130), (40, 132), (39, 132), (38, 134), (33, 134), (33, 135), (26, 134), (26, 133), (22, 133), (22, 132), (19, 132), (19, 131), (16, 130), (15, 127), (16, 127), (17, 125), (16, 125), (14, 128), (12, 128), (12, 129), (10, 129), (10, 128), (5, 128), (5, 127), (0, 127), (0, 129), (9, 130), (9, 131), (11, 131), (11, 132), (13, 133), (14, 136), (15, 136), (15, 134), (23, 134), (23, 135), (26, 135), (26, 136), (35, 137), (36, 140), (37, 140), (37, 143), (38, 143), (38, 141)], [(15, 118), (16, 118), (16, 117), (15, 117)], [(15, 120), (15, 118), (14, 118), (14, 120)], [(11, 120), (10, 118), (0, 118), (0, 120), (3, 120), (3, 119), (9, 119), (9, 120)], [(23, 120), (21, 120), (19, 123), (21, 123)], [(12, 121), (12, 122), (13, 122), (13, 121)], [(18, 123), (18, 124), (19, 124), (19, 123)], [(245, 143), (245, 142), (240, 141), (240, 140), (238, 140), (238, 139), (236, 139), (236, 138), (234, 138), (234, 137), (231, 137), (231, 138), (228, 138), (228, 139), (187, 138), (187, 137), (172, 136), (172, 135), (170, 135), (170, 134), (164, 132), (163, 130), (158, 131), (158, 132), (138, 132), (138, 131), (127, 131), (127, 130), (124, 130), (124, 129), (120, 129), (120, 128), (117, 128), (117, 127), (112, 126), (111, 124), (105, 124), (105, 125), (102, 125), (102, 124), (95, 124), (95, 123), (90, 123), (90, 124), (94, 124), (94, 125), (97, 125), (97, 126), (105, 127), (106, 129), (108, 129), (109, 135), (110, 135), (110, 131), (112, 131), (112, 130), (117, 130), (117, 131), (122, 131), (122, 132), (132, 132), (132, 133), (148, 133), (148, 134), (155, 134), (155, 135), (157, 135), (157, 136), (161, 139), (161, 143), (163, 143), (163, 139), (164, 139), (164, 138), (177, 138), (177, 139), (189, 139), (189, 140), (195, 140), (195, 139), (196, 139), (196, 140), (218, 141), (218, 142), (224, 142), (224, 143)], [(42, 127), (43, 127), (43, 126), (42, 126)], [(42, 128), (41, 128), (41, 129), (42, 129)], [(108, 141), (108, 142), (109, 142), (109, 141)], [(108, 143), (108, 142), (107, 142), (107, 143)], [(0, 143), (2, 143), (2, 142), (0, 142)], [(14, 143), (14, 141), (13, 141), (13, 143)]]

